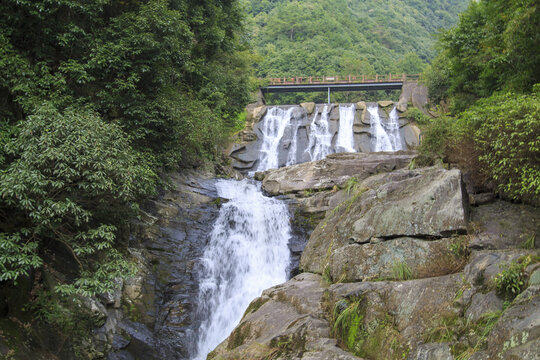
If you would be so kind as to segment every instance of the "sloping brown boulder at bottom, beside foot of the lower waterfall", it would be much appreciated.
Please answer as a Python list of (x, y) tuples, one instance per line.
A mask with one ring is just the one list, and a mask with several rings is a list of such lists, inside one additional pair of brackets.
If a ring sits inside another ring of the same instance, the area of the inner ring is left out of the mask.
[(265, 290), (208, 359), (359, 359), (337, 347), (321, 303), (324, 287), (301, 274)]

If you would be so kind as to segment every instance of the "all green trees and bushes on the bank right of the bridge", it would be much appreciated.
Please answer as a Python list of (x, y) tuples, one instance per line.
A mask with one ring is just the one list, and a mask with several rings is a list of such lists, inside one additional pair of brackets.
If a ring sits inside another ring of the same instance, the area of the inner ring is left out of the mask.
[(472, 2), (443, 32), (425, 78), (438, 118), (425, 153), (479, 186), (540, 204), (540, 9), (537, 1)]

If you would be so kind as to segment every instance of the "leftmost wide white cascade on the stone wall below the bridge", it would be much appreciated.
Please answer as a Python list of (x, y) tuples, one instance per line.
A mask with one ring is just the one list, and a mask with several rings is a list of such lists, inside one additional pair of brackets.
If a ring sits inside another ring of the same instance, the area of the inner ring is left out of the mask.
[(288, 110), (277, 106), (268, 109), (262, 123), (263, 143), (261, 146), (261, 158), (257, 171), (265, 171), (279, 167), (278, 147), (285, 128), (289, 124), (293, 108)]

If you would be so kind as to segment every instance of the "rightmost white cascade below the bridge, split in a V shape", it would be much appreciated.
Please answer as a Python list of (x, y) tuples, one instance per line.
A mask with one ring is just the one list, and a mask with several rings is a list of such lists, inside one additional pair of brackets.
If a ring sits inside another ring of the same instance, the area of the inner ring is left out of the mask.
[(378, 106), (370, 106), (368, 107), (368, 111), (371, 122), (372, 151), (401, 150), (403, 146), (399, 134), (399, 116), (396, 108), (390, 113), (387, 124), (388, 130), (384, 128), (381, 122)]

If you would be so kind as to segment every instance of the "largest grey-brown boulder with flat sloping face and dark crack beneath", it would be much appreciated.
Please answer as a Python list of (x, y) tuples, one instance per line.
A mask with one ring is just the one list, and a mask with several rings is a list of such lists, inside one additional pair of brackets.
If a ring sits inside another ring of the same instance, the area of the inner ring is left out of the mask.
[[(379, 253), (376, 258), (384, 259), (384, 264), (393, 261), (388, 257), (399, 261), (398, 257), (405, 256), (402, 252), (406, 247), (402, 244), (403, 240), (376, 247), (370, 245), (364, 249), (355, 246), (400, 237), (425, 240), (465, 232), (466, 199), (459, 170), (436, 167), (402, 169), (369, 177), (356, 186), (348, 200), (329, 212), (319, 223), (302, 254), (301, 267), (306, 271), (321, 273), (333, 257), (336, 257), (336, 264), (348, 258), (356, 261), (356, 264), (349, 263), (348, 267), (358, 270), (345, 273), (355, 279), (377, 277), (373, 271), (362, 275), (364, 270), (360, 269), (369, 267), (361, 263), (366, 260), (355, 260), (358, 258), (348, 257), (346, 250), (340, 249), (347, 246), (359, 255)], [(420, 253), (425, 254), (428, 247), (431, 248), (428, 253), (435, 254), (441, 250), (434, 244), (426, 245), (418, 241), (409, 241), (409, 244), (414, 249), (408, 252), (408, 258), (418, 258)], [(397, 256), (398, 253), (401, 255)], [(341, 265), (336, 266), (340, 269), (334, 271), (340, 273)]]

